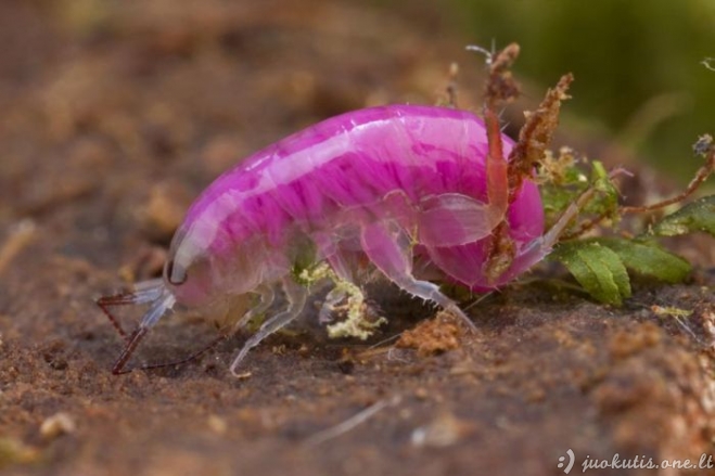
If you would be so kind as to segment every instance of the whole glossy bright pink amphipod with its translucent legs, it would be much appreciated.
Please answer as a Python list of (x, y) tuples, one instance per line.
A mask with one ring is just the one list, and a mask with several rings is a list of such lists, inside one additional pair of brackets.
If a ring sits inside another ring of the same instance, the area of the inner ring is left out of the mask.
[[(308, 291), (295, 270), (319, 262), (354, 282), (367, 257), (405, 292), (468, 320), (424, 276), (495, 288), (544, 257), (558, 234), (542, 236), (533, 182), (509, 201), (505, 154), (512, 142), (503, 138), (500, 154), (489, 154), (487, 142), (471, 113), (393, 105), (333, 117), (253, 154), (191, 206), (162, 280), (100, 303), (151, 305), (114, 372), (176, 305), (237, 312), (232, 303), (255, 303), (234, 318), (238, 330), (282, 288), (286, 308), (244, 344), (234, 372), (252, 347), (298, 316)], [(511, 259), (495, 274), (486, 268), (497, 227), (507, 228)]]

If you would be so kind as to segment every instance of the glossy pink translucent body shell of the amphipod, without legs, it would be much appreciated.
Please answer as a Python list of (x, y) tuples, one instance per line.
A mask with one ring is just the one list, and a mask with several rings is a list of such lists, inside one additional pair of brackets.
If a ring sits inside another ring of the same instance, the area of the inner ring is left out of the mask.
[[(502, 139), (508, 155), (513, 142)], [(482, 120), (445, 107), (366, 108), (292, 134), (221, 175), (192, 205), (171, 256), (187, 268), (203, 259), (220, 271), (206, 271), (203, 282), (179, 286), (174, 291), (177, 299), (248, 292), (280, 279), (291, 266), (284, 257), (296, 246), (296, 235), (314, 239), (316, 258), (324, 259), (353, 246), (353, 229), (395, 219), (409, 232), (417, 224), (410, 222), (410, 209), (425, 198), (462, 194), (486, 202), (486, 153)], [(417, 243), (417, 257), (475, 291), (502, 285), (523, 271), (511, 269), (487, 282), (482, 272), (487, 239), (434, 246), (435, 240), (454, 242), (456, 233), (475, 224), (460, 216), (449, 218), (429, 230), (431, 246)], [(518, 253), (541, 236), (544, 213), (535, 183), (524, 181), (507, 220)], [(234, 263), (241, 254), (252, 255), (239, 259), (247, 265), (218, 265)], [(258, 273), (252, 267), (261, 269)]]

